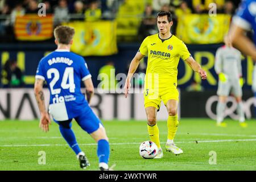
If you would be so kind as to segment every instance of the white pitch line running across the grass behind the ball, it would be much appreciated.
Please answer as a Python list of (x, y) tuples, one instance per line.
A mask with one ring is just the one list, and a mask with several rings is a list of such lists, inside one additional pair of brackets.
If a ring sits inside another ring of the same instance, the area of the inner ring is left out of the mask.
[[(254, 142), (256, 138), (253, 139), (228, 139), (228, 140), (201, 140), (197, 141), (197, 143), (214, 143), (214, 142)], [(189, 141), (189, 142), (175, 142), (175, 143), (195, 143), (196, 141)], [(165, 142), (160, 142), (165, 143)], [(110, 145), (122, 145), (122, 144), (141, 144), (137, 142), (131, 143), (110, 143)], [(97, 143), (82, 143), (79, 144), (80, 146), (94, 146)], [(68, 144), (5, 144), (0, 145), (0, 147), (48, 147), (48, 146), (68, 146)]]

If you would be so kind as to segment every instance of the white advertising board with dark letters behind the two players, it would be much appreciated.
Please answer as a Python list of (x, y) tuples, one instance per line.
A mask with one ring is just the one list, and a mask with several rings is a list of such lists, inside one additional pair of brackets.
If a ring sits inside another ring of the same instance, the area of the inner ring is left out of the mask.
[[(147, 121), (142, 92), (129, 94), (129, 97), (125, 98), (122, 93), (98, 93), (97, 89), (95, 90), (90, 106), (99, 118)], [(22, 120), (40, 118), (34, 89), (0, 89), (0, 96), (0, 121), (8, 118)], [(48, 89), (44, 89), (44, 98), (48, 108)], [(162, 102), (158, 119), (167, 121), (167, 118), (167, 109)]]

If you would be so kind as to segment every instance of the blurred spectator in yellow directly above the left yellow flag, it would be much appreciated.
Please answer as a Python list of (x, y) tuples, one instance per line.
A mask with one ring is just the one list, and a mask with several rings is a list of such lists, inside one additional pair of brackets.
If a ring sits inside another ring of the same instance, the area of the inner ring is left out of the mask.
[(85, 11), (85, 20), (89, 22), (93, 22), (100, 19), (101, 19), (101, 9), (98, 5), (98, 1), (90, 2), (89, 8)]

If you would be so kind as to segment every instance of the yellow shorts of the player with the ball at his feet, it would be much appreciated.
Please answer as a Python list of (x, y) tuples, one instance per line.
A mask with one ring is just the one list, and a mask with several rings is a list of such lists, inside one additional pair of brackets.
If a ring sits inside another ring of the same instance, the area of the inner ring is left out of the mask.
[(160, 109), (161, 101), (166, 106), (168, 100), (179, 101), (179, 92), (176, 87), (144, 89), (144, 107), (156, 107)]

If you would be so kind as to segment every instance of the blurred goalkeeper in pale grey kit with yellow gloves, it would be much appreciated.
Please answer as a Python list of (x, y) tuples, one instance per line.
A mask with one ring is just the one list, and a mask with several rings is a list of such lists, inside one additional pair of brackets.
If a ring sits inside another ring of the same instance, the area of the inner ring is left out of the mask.
[(230, 91), (236, 97), (237, 113), (240, 126), (246, 127), (245, 114), (242, 105), (242, 65), (241, 52), (232, 47), (228, 36), (224, 38), (225, 46), (217, 49), (214, 69), (218, 75), (218, 104), (217, 104), (217, 126), (226, 127), (224, 113), (226, 100)]

